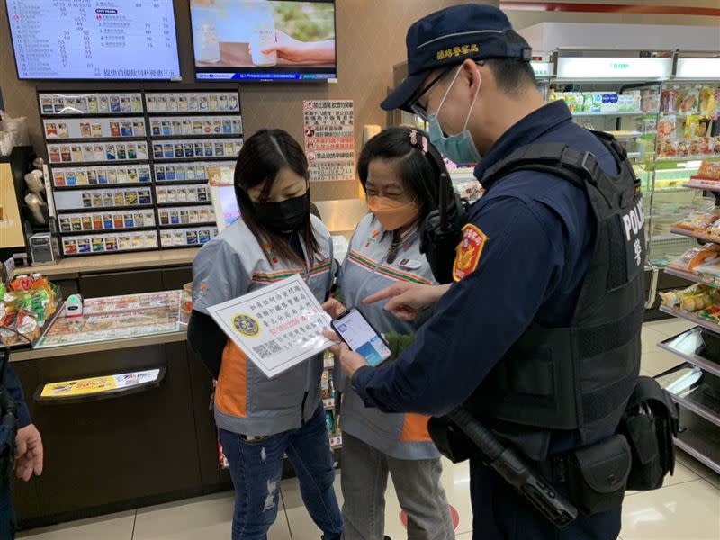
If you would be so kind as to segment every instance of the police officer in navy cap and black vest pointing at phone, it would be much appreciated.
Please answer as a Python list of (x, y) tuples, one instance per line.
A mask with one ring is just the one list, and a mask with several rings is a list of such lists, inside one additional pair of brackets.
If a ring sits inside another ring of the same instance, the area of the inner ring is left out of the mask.
[[(469, 211), (453, 284), (396, 284), (365, 299), (392, 298), (385, 309), (403, 319), (437, 301), (398, 361), (374, 368), (345, 345), (334, 352), (367, 406), (442, 416), (464, 405), (567, 491), (555, 457), (613, 438), (639, 372), (644, 233), (635, 176), (617, 147), (572, 122), (563, 101), (544, 103), (530, 48), (499, 9), (430, 14), (410, 27), (407, 47), (410, 75), (383, 109), (427, 118), (431, 142), (456, 163), (477, 162), (487, 193)], [(550, 143), (559, 144), (537, 146)], [(502, 165), (564, 145), (563, 163), (586, 168), (584, 180), (527, 159), (521, 170)], [(598, 181), (602, 171), (617, 178)], [(471, 493), (476, 538), (620, 531), (619, 502), (559, 531), (479, 457)]]

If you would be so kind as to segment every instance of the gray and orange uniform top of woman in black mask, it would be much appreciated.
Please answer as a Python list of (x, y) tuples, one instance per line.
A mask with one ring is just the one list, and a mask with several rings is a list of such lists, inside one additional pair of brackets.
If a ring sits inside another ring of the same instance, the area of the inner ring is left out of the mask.
[[(305, 252), (304, 267), (275, 257), (270, 259), (243, 220), (237, 220), (206, 244), (193, 262), (193, 309), (208, 308), (250, 293), (291, 275), (302, 275), (312, 293), (323, 302), (332, 284), (332, 240), (315, 216), (311, 223), (320, 255)], [(300, 428), (320, 406), (322, 355), (268, 379), (242, 351), (228, 341), (222, 353), (215, 389), (215, 421), (219, 428), (251, 436), (269, 436)]]

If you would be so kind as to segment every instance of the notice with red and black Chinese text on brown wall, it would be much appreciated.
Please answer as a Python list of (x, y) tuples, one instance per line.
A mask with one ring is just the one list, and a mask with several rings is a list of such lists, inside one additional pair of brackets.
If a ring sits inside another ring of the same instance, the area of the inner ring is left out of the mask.
[(310, 100), (302, 110), (311, 182), (355, 180), (353, 101)]

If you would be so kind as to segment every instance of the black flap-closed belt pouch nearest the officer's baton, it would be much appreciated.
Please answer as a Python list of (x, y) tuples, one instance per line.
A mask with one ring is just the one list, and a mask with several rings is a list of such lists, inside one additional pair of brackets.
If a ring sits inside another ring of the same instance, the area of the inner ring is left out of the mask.
[(584, 514), (618, 509), (625, 497), (632, 455), (626, 438), (613, 435), (567, 454), (567, 486)]

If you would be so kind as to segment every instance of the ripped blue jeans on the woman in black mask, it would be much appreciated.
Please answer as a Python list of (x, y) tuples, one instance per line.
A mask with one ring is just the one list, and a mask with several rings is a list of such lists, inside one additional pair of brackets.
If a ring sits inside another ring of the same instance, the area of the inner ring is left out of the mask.
[(265, 540), (277, 518), (280, 480), (287, 454), (300, 481), (305, 508), (325, 540), (342, 536), (343, 518), (335, 497), (332, 453), (320, 406), (302, 428), (259, 441), (220, 429), (235, 486), (232, 540)]

